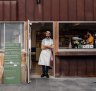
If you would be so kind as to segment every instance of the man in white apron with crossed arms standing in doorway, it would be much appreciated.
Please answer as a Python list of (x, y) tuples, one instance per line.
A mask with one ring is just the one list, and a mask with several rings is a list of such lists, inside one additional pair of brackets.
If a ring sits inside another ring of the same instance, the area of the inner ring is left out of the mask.
[(46, 31), (45, 35), (46, 35), (46, 38), (42, 40), (42, 44), (41, 44), (42, 51), (39, 57), (38, 64), (42, 66), (41, 77), (46, 76), (47, 78), (49, 78), (48, 70), (50, 66), (50, 60), (52, 57), (53, 39), (50, 38), (51, 36), (50, 31)]

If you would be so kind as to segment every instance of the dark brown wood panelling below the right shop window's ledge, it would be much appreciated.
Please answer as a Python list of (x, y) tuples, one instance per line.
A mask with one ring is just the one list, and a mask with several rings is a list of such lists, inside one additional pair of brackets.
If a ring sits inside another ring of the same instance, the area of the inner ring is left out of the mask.
[[(58, 58), (57, 58), (58, 57)], [(96, 76), (96, 58), (95, 56), (57, 56), (56, 71), (59, 77), (78, 76), (95, 77)]]

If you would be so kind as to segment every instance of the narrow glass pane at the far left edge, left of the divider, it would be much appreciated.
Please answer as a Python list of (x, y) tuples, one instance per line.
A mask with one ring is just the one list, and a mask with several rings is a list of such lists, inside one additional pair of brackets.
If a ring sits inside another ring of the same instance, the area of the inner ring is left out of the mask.
[(4, 24), (0, 23), (0, 49), (4, 48)]

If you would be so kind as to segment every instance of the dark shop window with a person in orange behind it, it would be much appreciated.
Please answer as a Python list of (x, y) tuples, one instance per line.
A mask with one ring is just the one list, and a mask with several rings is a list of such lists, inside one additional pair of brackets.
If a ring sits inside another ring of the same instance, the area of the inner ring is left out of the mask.
[(96, 48), (96, 23), (59, 23), (59, 48)]

